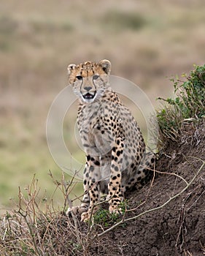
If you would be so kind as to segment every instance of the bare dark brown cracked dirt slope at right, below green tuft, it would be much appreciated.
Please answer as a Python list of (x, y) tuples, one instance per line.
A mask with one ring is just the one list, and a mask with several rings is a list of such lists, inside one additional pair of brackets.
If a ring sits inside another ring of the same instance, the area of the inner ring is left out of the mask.
[[(203, 165), (200, 159), (205, 160), (204, 138), (205, 122), (197, 129), (191, 124), (187, 125), (182, 143), (170, 143), (166, 154), (160, 156), (156, 170), (166, 173), (158, 174), (152, 187), (147, 184), (139, 192), (127, 195), (129, 207), (136, 208), (128, 217), (163, 206), (170, 197), (187, 187)], [(196, 179), (181, 195), (162, 208), (109, 231), (92, 246), (91, 254), (204, 255), (205, 167), (201, 168)]]

